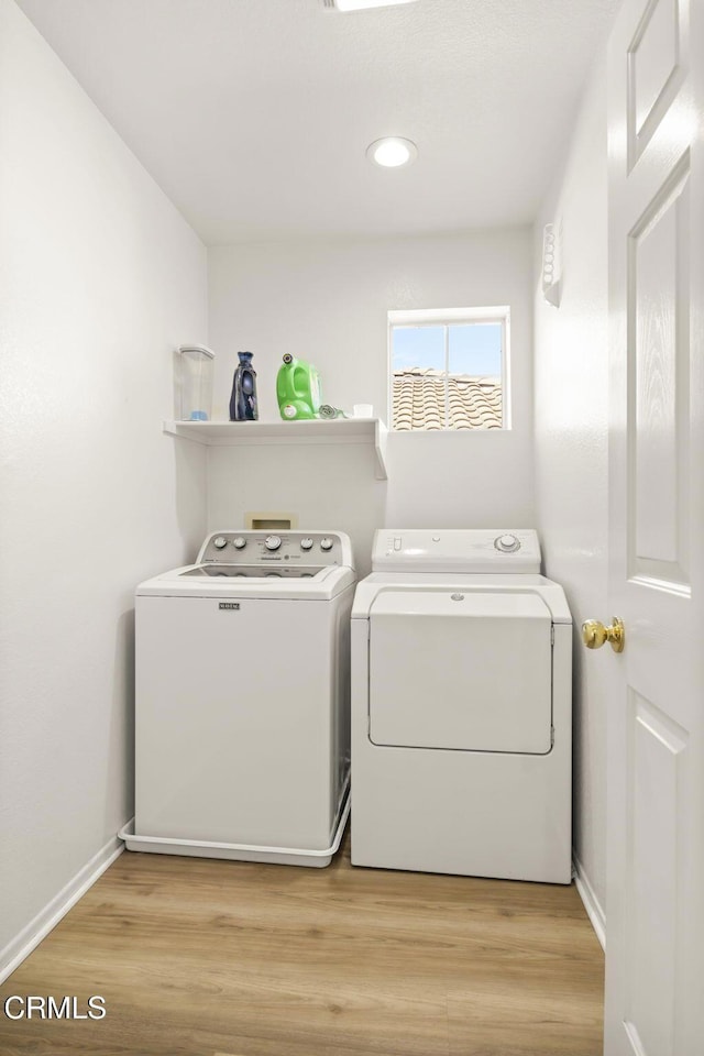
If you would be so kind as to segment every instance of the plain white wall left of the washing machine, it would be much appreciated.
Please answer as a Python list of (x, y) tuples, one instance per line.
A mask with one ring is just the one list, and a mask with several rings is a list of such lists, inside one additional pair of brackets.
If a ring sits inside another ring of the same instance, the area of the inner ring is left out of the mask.
[(12, 0), (0, 245), (1, 972), (132, 813), (133, 590), (205, 530), (160, 418), (207, 337), (202, 244)]

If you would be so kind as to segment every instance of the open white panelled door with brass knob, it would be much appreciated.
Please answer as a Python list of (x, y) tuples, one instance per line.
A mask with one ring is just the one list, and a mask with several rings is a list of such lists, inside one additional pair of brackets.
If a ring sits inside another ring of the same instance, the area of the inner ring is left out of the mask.
[(609, 46), (606, 1056), (704, 1053), (704, 4)]

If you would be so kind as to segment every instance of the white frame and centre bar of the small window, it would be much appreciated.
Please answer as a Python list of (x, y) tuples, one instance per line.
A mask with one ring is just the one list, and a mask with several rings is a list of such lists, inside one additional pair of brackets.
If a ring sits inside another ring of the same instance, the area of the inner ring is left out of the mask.
[[(501, 323), (502, 327), (502, 432), (512, 428), (510, 394), (510, 307), (496, 305), (485, 308), (410, 308), (393, 309), (387, 314), (386, 387), (388, 428), (399, 436), (428, 436), (429, 432), (484, 432), (483, 429), (394, 429), (394, 329), (400, 327), (451, 327), (462, 323)], [(449, 330), (444, 338), (446, 374), (449, 374)], [(446, 421), (448, 420), (448, 388), (446, 386)], [(493, 430), (492, 430), (493, 431)]]

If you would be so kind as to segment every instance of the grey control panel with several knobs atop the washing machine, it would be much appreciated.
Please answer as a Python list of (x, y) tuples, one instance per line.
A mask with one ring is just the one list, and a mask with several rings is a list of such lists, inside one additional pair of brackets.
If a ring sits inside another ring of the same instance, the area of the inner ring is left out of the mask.
[(314, 564), (353, 566), (352, 546), (342, 531), (213, 531), (196, 564)]

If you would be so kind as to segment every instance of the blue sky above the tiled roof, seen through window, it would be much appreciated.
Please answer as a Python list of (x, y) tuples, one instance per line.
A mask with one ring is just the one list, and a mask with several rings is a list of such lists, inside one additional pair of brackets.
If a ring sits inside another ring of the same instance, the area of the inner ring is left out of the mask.
[[(450, 374), (501, 377), (501, 323), (451, 323), (449, 330)], [(411, 366), (444, 371), (444, 327), (393, 328), (392, 370)]]

